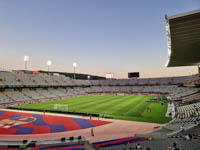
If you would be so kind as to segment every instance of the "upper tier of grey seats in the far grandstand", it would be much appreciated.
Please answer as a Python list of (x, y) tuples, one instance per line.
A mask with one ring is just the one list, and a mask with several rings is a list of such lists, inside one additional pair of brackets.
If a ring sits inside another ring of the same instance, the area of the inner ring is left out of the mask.
[(23, 74), (17, 72), (0, 72), (0, 86), (126, 86), (126, 85), (166, 85), (200, 81), (199, 76), (168, 78), (119, 79), (119, 80), (72, 80), (63, 75)]

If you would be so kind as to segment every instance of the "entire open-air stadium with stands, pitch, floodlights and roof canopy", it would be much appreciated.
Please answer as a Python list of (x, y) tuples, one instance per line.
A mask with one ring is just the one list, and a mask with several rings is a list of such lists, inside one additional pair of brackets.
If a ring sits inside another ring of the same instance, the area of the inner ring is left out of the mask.
[(25, 70), (0, 70), (0, 149), (200, 149), (200, 10), (164, 17), (166, 67), (197, 74), (81, 79), (76, 63), (71, 76), (30, 71), (25, 56)]

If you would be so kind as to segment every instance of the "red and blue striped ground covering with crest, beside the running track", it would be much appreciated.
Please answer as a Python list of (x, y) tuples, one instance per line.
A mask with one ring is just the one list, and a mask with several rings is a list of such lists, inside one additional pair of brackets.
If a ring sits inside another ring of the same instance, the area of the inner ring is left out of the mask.
[(111, 122), (0, 110), (0, 134), (25, 135), (67, 132)]

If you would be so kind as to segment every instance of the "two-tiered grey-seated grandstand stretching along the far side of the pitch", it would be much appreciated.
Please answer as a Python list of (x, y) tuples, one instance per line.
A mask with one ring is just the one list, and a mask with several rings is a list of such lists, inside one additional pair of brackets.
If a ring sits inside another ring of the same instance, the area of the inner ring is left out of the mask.
[[(64, 76), (0, 72), (1, 102), (57, 99), (94, 93), (154, 93), (171, 100), (192, 101), (199, 98), (199, 76), (171, 78), (71, 80)], [(161, 81), (161, 82), (160, 82)], [(190, 83), (193, 85), (180, 86)], [(74, 88), (73, 88), (74, 87)], [(13, 104), (13, 103), (12, 103)]]

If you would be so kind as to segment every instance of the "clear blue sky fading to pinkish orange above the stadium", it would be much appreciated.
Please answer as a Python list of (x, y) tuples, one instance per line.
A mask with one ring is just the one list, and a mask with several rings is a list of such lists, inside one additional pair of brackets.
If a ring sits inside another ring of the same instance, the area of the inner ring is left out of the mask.
[(200, 9), (200, 0), (0, 0), (0, 68), (127, 78), (180, 76), (197, 67), (166, 68), (164, 15)]

